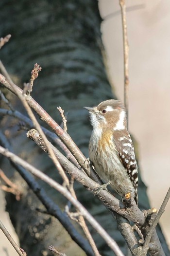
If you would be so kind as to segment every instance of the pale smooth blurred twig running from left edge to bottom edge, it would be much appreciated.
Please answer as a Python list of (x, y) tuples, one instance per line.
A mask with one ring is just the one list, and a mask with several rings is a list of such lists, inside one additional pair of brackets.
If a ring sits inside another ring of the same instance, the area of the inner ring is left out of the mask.
[(5, 157), (9, 158), (11, 161), (17, 163), (18, 165), (23, 166), (28, 171), (30, 171), (33, 175), (35, 175), (37, 178), (48, 183), (51, 187), (59, 191), (80, 211), (81, 215), (84, 216), (85, 219), (87, 219), (87, 221), (92, 225), (92, 227), (100, 234), (100, 236), (105, 240), (107, 245), (114, 251), (116, 256), (124, 256), (123, 253), (120, 251), (119, 246), (117, 245), (115, 240), (107, 234), (107, 232), (102, 228), (102, 226), (85, 209), (85, 207), (70, 194), (70, 192), (66, 187), (55, 182), (46, 174), (36, 169), (34, 166), (28, 164), (26, 161), (19, 158), (17, 155), (11, 153), (7, 149), (3, 148), (2, 146), (0, 146), (0, 153)]

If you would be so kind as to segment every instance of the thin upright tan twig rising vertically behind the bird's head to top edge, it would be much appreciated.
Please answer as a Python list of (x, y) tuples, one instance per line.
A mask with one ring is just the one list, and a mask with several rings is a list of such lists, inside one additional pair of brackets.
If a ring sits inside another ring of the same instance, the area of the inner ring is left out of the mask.
[(124, 56), (124, 106), (127, 111), (128, 123), (128, 109), (129, 109), (129, 44), (127, 37), (127, 22), (126, 22), (126, 4), (125, 0), (119, 0), (121, 7), (121, 19), (123, 26), (123, 56)]

